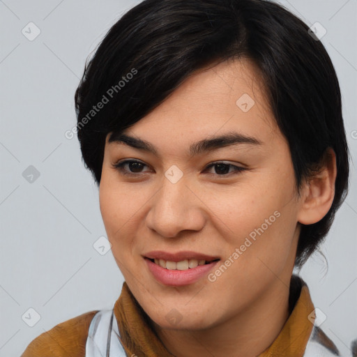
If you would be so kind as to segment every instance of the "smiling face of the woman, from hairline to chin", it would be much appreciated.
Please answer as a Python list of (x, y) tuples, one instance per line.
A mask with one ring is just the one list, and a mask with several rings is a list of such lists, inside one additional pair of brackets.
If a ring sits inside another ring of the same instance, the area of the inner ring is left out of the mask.
[[(226, 61), (197, 71), (121, 133), (155, 150), (107, 137), (107, 236), (130, 291), (162, 328), (175, 318), (175, 328), (209, 328), (289, 290), (300, 203), (263, 88), (250, 61)], [(169, 269), (148, 256), (167, 257)], [(193, 268), (195, 257), (219, 260)], [(184, 262), (172, 271), (173, 261)]]

